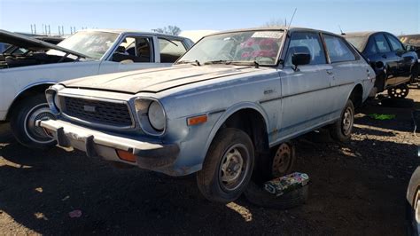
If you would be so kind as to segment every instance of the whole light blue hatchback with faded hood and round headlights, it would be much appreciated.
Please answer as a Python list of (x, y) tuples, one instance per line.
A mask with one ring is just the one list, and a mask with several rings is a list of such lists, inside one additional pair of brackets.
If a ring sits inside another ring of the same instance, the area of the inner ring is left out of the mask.
[(56, 84), (46, 95), (58, 120), (37, 125), (88, 156), (171, 176), (198, 172), (201, 193), (226, 202), (270, 147), (323, 126), (350, 138), (354, 106), (374, 80), (339, 35), (229, 31), (205, 36), (173, 67)]

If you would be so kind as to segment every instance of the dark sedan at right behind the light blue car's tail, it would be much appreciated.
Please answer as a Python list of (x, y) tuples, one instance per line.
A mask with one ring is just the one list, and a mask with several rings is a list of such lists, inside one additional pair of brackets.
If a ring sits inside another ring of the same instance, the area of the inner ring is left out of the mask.
[(375, 68), (375, 90), (388, 90), (391, 98), (405, 98), (408, 84), (418, 76), (418, 58), (400, 40), (387, 32), (359, 32), (344, 35)]

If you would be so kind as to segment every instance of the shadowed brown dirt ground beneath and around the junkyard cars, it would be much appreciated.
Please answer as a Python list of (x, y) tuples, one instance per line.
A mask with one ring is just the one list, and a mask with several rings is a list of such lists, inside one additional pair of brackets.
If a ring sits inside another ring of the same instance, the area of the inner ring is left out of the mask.
[[(420, 90), (409, 98), (420, 108)], [(312, 179), (307, 204), (259, 208), (206, 201), (195, 178), (115, 169), (83, 153), (29, 150), (0, 128), (0, 234), (404, 235), (405, 193), (419, 164), (413, 108), (369, 102), (350, 143), (325, 132), (296, 140), (296, 168)], [(395, 114), (376, 121), (367, 114)], [(71, 218), (75, 209), (82, 216)]]

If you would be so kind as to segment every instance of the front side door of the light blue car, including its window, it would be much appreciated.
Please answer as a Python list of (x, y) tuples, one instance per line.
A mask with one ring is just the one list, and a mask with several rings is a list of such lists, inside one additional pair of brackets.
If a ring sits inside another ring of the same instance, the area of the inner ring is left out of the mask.
[[(294, 69), (293, 53), (309, 53), (309, 64)], [(316, 32), (292, 33), (284, 69), (280, 72), (283, 95), (280, 137), (293, 138), (331, 120), (332, 76), (320, 35)]]

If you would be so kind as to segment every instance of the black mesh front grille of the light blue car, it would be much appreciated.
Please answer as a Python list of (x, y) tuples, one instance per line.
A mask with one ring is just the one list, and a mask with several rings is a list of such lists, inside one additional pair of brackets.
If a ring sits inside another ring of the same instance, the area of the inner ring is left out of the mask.
[(59, 98), (63, 113), (85, 122), (115, 127), (131, 127), (133, 120), (125, 103), (90, 100), (83, 98)]

